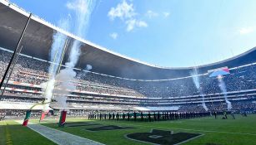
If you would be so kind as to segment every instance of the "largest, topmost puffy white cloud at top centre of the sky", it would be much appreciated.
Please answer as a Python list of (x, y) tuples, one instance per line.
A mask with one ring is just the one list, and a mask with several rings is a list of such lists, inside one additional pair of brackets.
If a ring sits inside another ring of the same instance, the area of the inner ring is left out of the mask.
[(134, 12), (133, 3), (128, 4), (125, 0), (119, 3), (117, 7), (111, 7), (108, 12), (108, 17), (114, 20), (116, 17), (120, 19), (131, 18), (136, 13)]

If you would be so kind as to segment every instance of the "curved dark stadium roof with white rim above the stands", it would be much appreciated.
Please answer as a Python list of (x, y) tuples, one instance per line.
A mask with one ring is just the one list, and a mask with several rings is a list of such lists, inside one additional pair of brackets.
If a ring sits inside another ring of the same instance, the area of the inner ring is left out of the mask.
[[(22, 8), (0, 0), (0, 46), (9, 50), (14, 50), (18, 39), (23, 31), (23, 27), (28, 20), (29, 12)], [(85, 68), (87, 64), (93, 65), (93, 72), (106, 75), (113, 75), (123, 78), (138, 80), (159, 80), (184, 77), (190, 75), (193, 67), (167, 68), (150, 65), (145, 62), (133, 60), (127, 56), (122, 56), (113, 51), (83, 40), (67, 31), (53, 26), (43, 19), (32, 16), (28, 24), (28, 29), (22, 41), (23, 54), (48, 60), (48, 54), (53, 42), (53, 33), (61, 31), (67, 35), (71, 42), (74, 39), (83, 43), (81, 56), (78, 60), (77, 68)], [(67, 60), (67, 55), (64, 60)], [(213, 64), (197, 66), (199, 73), (206, 73), (219, 67), (236, 67), (256, 62), (256, 47), (238, 56), (233, 56), (227, 60), (222, 60)]]

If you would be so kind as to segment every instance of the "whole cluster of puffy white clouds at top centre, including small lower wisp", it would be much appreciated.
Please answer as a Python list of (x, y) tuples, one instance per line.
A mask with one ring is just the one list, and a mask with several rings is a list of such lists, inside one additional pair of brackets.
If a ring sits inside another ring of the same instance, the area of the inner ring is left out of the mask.
[[(138, 19), (138, 15), (135, 12), (133, 3), (128, 3), (125, 0), (118, 3), (116, 7), (111, 7), (108, 12), (108, 17), (113, 21), (116, 18), (120, 19), (126, 25), (126, 31), (133, 31), (135, 27), (148, 27), (147, 22)], [(111, 35), (113, 39), (116, 39), (116, 35)]]

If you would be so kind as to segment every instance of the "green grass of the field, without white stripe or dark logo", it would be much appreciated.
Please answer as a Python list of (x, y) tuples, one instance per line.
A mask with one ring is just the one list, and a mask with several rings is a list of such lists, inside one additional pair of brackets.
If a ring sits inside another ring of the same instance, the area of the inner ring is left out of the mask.
[[(230, 116), (229, 116), (230, 118)], [(33, 123), (38, 123), (38, 120), (30, 120)], [(198, 138), (183, 143), (186, 145), (256, 145), (256, 115), (248, 115), (242, 117), (236, 115), (236, 119), (223, 120), (211, 118), (193, 118), (176, 121), (162, 121), (162, 122), (128, 122), (128, 121), (99, 121), (99, 120), (85, 120), (85, 119), (67, 119), (71, 122), (86, 122), (98, 123), (101, 125), (87, 125), (78, 127), (58, 128), (56, 120), (45, 120), (41, 123), (50, 128), (62, 130), (67, 133), (72, 133), (83, 138), (89, 138), (99, 143), (109, 145), (116, 144), (149, 144), (133, 141), (125, 138), (128, 133), (148, 133), (151, 129), (171, 130), (174, 133), (199, 133), (203, 134)], [(103, 125), (117, 125), (122, 127), (133, 127), (121, 130), (103, 130), (103, 131), (88, 131), (87, 128), (93, 128)], [(33, 144), (55, 144), (52, 141), (44, 138), (33, 130), (22, 127), (15, 121), (0, 122), (0, 144), (14, 144), (14, 145), (33, 145)]]

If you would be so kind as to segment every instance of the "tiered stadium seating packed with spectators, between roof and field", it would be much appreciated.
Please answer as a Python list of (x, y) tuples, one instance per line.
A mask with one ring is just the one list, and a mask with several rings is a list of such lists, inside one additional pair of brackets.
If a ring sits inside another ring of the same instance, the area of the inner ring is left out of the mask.
[[(12, 52), (0, 50), (0, 76), (6, 70)], [(43, 101), (42, 83), (48, 81), (50, 63), (31, 56), (21, 55), (15, 66), (13, 75), (8, 82), (1, 101), (37, 103)], [(92, 110), (147, 110), (149, 108), (178, 106), (178, 111), (203, 112), (202, 96), (193, 84), (191, 77), (166, 81), (136, 81), (123, 80), (98, 75), (93, 72), (76, 70), (73, 80), (76, 90), (68, 95), (70, 109)], [(256, 65), (247, 65), (230, 70), (231, 75), (225, 75), (228, 99), (233, 103), (233, 109), (255, 109)], [(223, 93), (219, 89), (218, 80), (208, 75), (200, 76), (200, 85), (205, 102), (210, 110), (221, 110)], [(58, 96), (58, 94), (55, 94)], [(241, 103), (243, 102), (243, 103)], [(53, 109), (58, 109), (56, 104)], [(170, 108), (168, 108), (171, 110)]]

